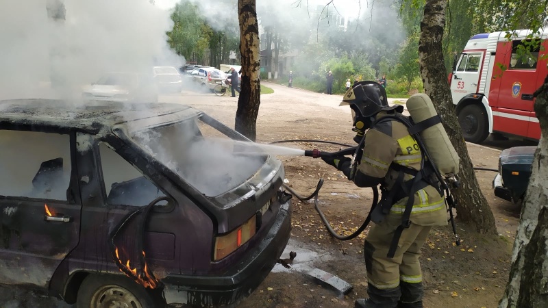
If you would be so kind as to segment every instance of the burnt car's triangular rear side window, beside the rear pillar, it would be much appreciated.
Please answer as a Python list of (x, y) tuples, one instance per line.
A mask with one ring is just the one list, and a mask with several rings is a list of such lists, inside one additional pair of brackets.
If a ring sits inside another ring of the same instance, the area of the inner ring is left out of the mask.
[(142, 207), (155, 198), (165, 196), (162, 190), (105, 142), (99, 144), (99, 155), (107, 204)]

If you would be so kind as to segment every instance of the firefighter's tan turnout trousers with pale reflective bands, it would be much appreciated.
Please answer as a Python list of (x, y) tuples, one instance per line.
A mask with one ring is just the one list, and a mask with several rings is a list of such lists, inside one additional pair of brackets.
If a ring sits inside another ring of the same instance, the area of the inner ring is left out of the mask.
[[(390, 290), (401, 285), (402, 303), (423, 299), (422, 272), (419, 257), (432, 226), (411, 223), (403, 229), (393, 258), (386, 255), (401, 216), (388, 215), (384, 221), (373, 225), (364, 242), (367, 279), (378, 290)], [(400, 283), (401, 282), (401, 283)]]

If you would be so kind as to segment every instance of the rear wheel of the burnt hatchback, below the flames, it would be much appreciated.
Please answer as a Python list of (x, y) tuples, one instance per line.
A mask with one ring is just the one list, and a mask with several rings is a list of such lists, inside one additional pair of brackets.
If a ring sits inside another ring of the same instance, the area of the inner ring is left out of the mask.
[(77, 295), (78, 308), (158, 307), (145, 287), (118, 275), (91, 274)]

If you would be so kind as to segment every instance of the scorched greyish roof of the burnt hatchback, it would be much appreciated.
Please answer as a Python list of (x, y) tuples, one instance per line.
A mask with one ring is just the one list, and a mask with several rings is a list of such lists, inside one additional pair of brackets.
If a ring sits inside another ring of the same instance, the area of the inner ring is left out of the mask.
[(173, 103), (86, 103), (54, 99), (0, 101), (0, 127), (49, 127), (86, 133), (112, 131), (114, 125), (183, 112), (192, 116), (199, 110)]

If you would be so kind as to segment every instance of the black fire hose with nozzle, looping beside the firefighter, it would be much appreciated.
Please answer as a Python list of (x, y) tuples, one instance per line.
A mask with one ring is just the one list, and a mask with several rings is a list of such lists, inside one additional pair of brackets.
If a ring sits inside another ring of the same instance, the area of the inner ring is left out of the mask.
[[(340, 146), (348, 146), (347, 149), (341, 149), (340, 151), (336, 151), (336, 152), (325, 152), (325, 151), (319, 151), (317, 149), (305, 150), (304, 151), (305, 156), (309, 156), (309, 157), (313, 157), (313, 158), (318, 158), (318, 157), (327, 158), (327, 157), (340, 157), (340, 156), (345, 156), (345, 155), (353, 155), (353, 154), (356, 153), (356, 150), (358, 150), (358, 147), (361, 146), (361, 144), (358, 144), (357, 146), (349, 146), (348, 144), (342, 144), (342, 143), (338, 143), (338, 142), (325, 141), (325, 140), (278, 140), (278, 141), (275, 141), (275, 142), (271, 142), (271, 144), (283, 143), (283, 142), (319, 142), (319, 143), (327, 143), (327, 144), (336, 144), (336, 145), (340, 145)], [(480, 167), (473, 167), (473, 170), (498, 172), (497, 169), (480, 168)], [(458, 183), (456, 183), (456, 185), (458, 185)], [(321, 209), (318, 205), (318, 194), (320, 192), (321, 187), (323, 186), (323, 179), (322, 178), (320, 178), (319, 181), (318, 181), (318, 184), (316, 184), (316, 190), (314, 190), (314, 192), (312, 192), (312, 194), (310, 194), (310, 196), (307, 196), (307, 197), (304, 197), (304, 196), (301, 196), (301, 195), (297, 194), (297, 192), (295, 192), (294, 190), (289, 188), (288, 185), (282, 184), (282, 186), (286, 190), (288, 190), (293, 196), (295, 196), (297, 199), (299, 199), (299, 201), (304, 202), (304, 201), (309, 201), (310, 199), (314, 198), (314, 209), (316, 209), (316, 211), (318, 212), (323, 224), (325, 224), (325, 227), (327, 228), (327, 231), (329, 231), (329, 233), (331, 233), (331, 235), (334, 238), (336, 238), (338, 240), (343, 240), (343, 241), (351, 240), (353, 238), (356, 238), (356, 236), (360, 235), (360, 233), (362, 233), (362, 231), (364, 231), (364, 229), (367, 227), (369, 222), (371, 222), (371, 212), (373, 212), (373, 209), (375, 209), (375, 207), (377, 206), (377, 203), (379, 201), (379, 191), (377, 190), (376, 187), (372, 187), (371, 190), (373, 190), (373, 202), (371, 203), (371, 210), (369, 211), (369, 214), (367, 215), (367, 217), (364, 220), (364, 222), (362, 223), (362, 225), (358, 228), (358, 230), (354, 231), (351, 235), (346, 235), (345, 236), (345, 235), (338, 234), (333, 229), (331, 224), (329, 224), (329, 220), (327, 220), (327, 218), (323, 214), (323, 211), (321, 211)], [(451, 198), (451, 200), (452, 200), (451, 195), (449, 195), (449, 198)], [(452, 216), (451, 216), (451, 218), (452, 218)], [(454, 227), (453, 227), (453, 229), (454, 229)], [(455, 234), (456, 234), (456, 230), (453, 230), (453, 232), (455, 232)], [(457, 242), (459, 244), (460, 240), (457, 240)]]

